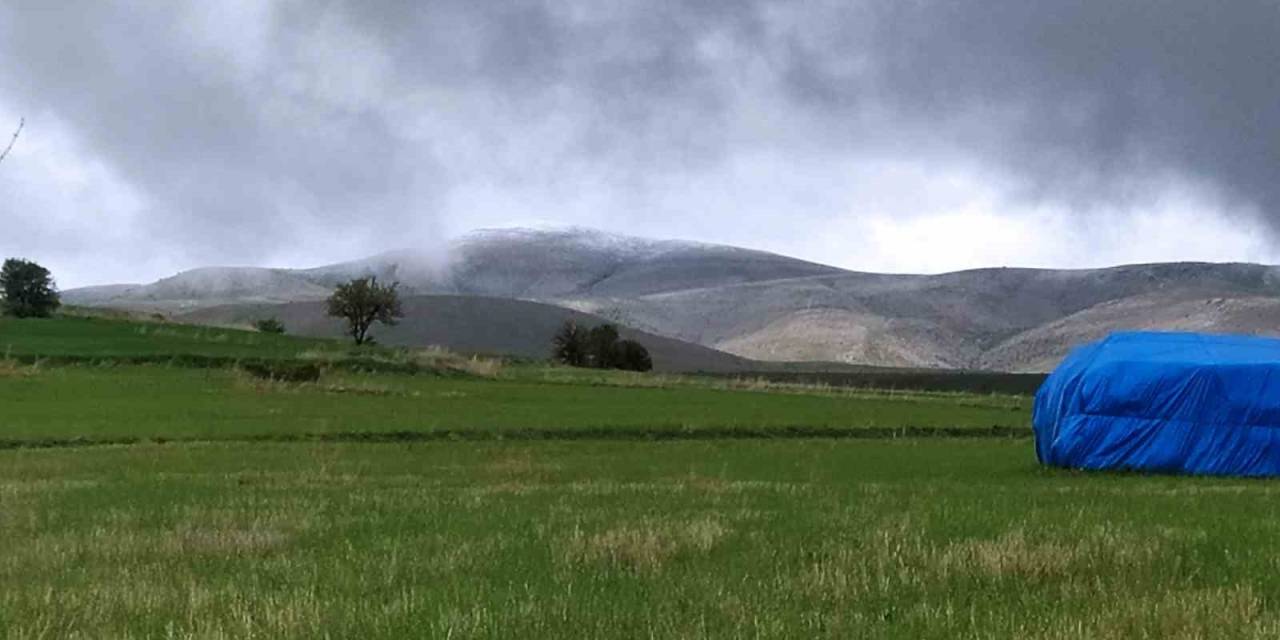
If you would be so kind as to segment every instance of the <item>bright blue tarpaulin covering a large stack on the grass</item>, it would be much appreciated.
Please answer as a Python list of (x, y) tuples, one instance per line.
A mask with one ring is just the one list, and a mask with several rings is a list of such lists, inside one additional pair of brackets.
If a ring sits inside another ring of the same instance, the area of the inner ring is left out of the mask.
[(1032, 425), (1046, 465), (1280, 475), (1280, 339), (1111, 334), (1050, 374)]

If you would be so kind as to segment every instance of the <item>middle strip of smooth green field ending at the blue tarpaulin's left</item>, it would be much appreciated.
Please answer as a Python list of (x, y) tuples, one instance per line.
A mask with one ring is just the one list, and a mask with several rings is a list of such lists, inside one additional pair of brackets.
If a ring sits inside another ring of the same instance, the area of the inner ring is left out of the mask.
[(1025, 402), (326, 374), (262, 383), (228, 369), (17, 367), (0, 378), (0, 440), (237, 439), (431, 433), (686, 436), (699, 431), (1023, 429)]

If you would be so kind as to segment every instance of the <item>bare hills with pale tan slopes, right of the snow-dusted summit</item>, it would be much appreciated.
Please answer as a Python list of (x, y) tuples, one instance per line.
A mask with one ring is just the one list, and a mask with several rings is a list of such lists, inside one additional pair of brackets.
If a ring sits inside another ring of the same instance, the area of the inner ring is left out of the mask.
[[(1256, 312), (1199, 314), (1201, 321), (1187, 323), (1176, 314), (1152, 314), (1142, 301), (1158, 307), (1161, 301), (1271, 297), (1280, 298), (1280, 279), (1271, 266), (1160, 264), (840, 274), (566, 303), (585, 311), (608, 308), (632, 326), (759, 360), (1041, 371), (1084, 337), (1115, 329), (1280, 332), (1280, 323)], [(1130, 298), (1132, 303), (1121, 303)], [(1108, 303), (1129, 312), (1106, 320), (1082, 314)], [(1062, 323), (1057, 342), (1023, 337), (1052, 323)]]

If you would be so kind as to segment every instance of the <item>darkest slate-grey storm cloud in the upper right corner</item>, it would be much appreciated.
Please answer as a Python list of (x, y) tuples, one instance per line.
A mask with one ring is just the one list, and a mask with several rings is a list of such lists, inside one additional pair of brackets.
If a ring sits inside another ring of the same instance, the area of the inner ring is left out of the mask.
[[(800, 102), (837, 114), (872, 95), (1041, 196), (1132, 197), (1135, 174), (1176, 170), (1280, 224), (1280, 3), (909, 1), (858, 13), (874, 24), (865, 40), (792, 49), (787, 86)], [(870, 81), (832, 70), (851, 56), (869, 58)]]

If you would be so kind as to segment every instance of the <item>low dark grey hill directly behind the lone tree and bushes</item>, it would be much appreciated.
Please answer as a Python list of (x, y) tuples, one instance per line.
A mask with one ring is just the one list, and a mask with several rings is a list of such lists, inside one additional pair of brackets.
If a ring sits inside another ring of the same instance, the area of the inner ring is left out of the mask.
[[(509, 353), (532, 358), (550, 355), (550, 339), (566, 320), (594, 326), (602, 317), (568, 308), (480, 296), (408, 296), (404, 317), (394, 326), (375, 326), (378, 342), (389, 346), (440, 346), (465, 353)], [(179, 321), (247, 325), (280, 319), (288, 332), (317, 338), (342, 337), (339, 320), (325, 315), (324, 302), (244, 303), (206, 307), (175, 316)], [(640, 340), (659, 371), (736, 372), (756, 369), (745, 358), (700, 344), (621, 329)]]

